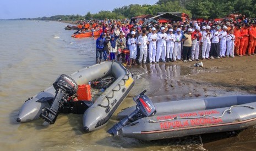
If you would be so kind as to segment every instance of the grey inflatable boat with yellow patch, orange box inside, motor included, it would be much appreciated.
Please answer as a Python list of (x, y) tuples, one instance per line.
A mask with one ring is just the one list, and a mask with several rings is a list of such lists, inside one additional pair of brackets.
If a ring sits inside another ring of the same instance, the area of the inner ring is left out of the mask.
[[(76, 108), (68, 99), (77, 92), (77, 85), (88, 84), (92, 80), (111, 75), (115, 81), (106, 88), (94, 101), (74, 101), (83, 104)], [(104, 127), (113, 113), (122, 103), (134, 85), (132, 74), (117, 62), (103, 62), (83, 68), (70, 75), (61, 75), (53, 86), (29, 98), (19, 111), (17, 121), (25, 123), (43, 118), (53, 124), (58, 113), (68, 110), (73, 113), (83, 112), (83, 126), (85, 131), (93, 131)], [(68, 95), (67, 95), (68, 94)], [(69, 95), (72, 94), (72, 95)], [(57, 100), (57, 101), (56, 101)], [(63, 101), (64, 100), (64, 101)]]

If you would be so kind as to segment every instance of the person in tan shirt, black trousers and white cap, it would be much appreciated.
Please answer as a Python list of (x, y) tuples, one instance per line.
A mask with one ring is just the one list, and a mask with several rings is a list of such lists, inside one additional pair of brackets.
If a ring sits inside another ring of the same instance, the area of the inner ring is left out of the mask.
[(192, 37), (191, 37), (192, 29), (189, 28), (188, 32), (183, 34), (182, 41), (183, 43), (183, 61), (187, 62), (192, 61), (190, 59), (191, 56), (191, 48), (192, 48)]

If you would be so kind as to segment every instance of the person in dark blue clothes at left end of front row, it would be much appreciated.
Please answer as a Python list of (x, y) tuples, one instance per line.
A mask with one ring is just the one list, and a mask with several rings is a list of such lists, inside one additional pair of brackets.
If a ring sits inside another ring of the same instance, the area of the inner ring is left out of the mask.
[[(105, 42), (105, 33), (101, 33), (100, 37), (96, 40), (96, 63), (101, 63), (104, 42)], [(99, 60), (100, 57), (100, 60)]]

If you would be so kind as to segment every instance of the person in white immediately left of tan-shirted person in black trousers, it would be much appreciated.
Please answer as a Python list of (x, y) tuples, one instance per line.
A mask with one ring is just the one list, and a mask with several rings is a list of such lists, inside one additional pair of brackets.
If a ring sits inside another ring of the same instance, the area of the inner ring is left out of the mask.
[(175, 43), (173, 49), (173, 61), (179, 60), (181, 61), (181, 28), (177, 28), (177, 33), (175, 33)]

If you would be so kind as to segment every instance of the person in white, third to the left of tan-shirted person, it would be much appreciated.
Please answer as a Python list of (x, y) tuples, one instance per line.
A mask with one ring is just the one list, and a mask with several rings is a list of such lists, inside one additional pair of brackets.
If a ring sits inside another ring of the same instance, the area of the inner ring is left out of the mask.
[(162, 62), (165, 62), (166, 56), (166, 39), (167, 34), (165, 33), (165, 27), (160, 28), (161, 32), (157, 33), (157, 50), (156, 50), (156, 62), (158, 63), (160, 57)]

